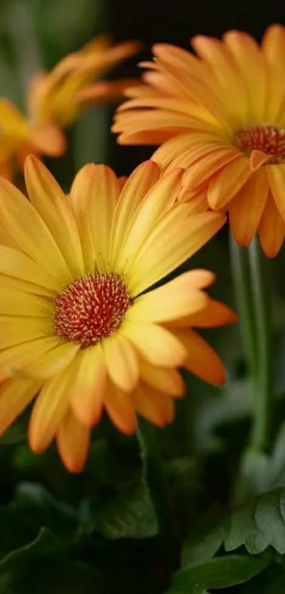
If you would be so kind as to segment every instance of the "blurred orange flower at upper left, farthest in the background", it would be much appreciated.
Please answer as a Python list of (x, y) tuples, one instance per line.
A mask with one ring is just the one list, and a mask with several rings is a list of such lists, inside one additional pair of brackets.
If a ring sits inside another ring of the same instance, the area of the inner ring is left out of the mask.
[(59, 157), (66, 150), (62, 128), (91, 103), (115, 101), (130, 81), (94, 82), (139, 49), (136, 42), (112, 46), (100, 36), (81, 51), (66, 56), (49, 73), (38, 73), (27, 89), (27, 116), (0, 98), (0, 174), (11, 178), (13, 159), (23, 168), (25, 157)]

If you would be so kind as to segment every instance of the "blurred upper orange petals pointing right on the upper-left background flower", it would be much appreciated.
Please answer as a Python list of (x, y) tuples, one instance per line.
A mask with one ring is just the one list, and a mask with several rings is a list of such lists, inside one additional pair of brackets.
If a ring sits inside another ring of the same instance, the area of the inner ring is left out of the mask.
[(138, 49), (139, 44), (134, 41), (112, 45), (107, 35), (100, 35), (64, 57), (51, 72), (37, 74), (29, 91), (31, 119), (65, 127), (89, 103), (120, 99), (129, 80), (98, 79)]

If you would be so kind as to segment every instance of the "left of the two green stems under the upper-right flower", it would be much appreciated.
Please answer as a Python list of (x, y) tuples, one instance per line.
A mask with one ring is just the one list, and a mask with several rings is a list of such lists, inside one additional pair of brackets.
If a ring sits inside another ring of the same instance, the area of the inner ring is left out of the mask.
[(230, 234), (231, 265), (235, 296), (240, 315), (240, 327), (245, 357), (248, 360), (249, 372), (253, 383), (258, 374), (257, 335), (255, 330), (255, 310), (250, 279), (250, 263), (248, 250), (239, 247)]

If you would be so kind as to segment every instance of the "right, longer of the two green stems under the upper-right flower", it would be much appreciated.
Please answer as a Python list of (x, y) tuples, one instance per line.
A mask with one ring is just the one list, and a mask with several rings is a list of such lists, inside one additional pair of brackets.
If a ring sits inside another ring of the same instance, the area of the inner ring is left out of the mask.
[(270, 443), (274, 405), (273, 357), (272, 342), (270, 340), (270, 284), (266, 280), (266, 262), (257, 237), (250, 244), (249, 256), (258, 354), (258, 378), (255, 391), (255, 413), (251, 443), (255, 449), (266, 452)]

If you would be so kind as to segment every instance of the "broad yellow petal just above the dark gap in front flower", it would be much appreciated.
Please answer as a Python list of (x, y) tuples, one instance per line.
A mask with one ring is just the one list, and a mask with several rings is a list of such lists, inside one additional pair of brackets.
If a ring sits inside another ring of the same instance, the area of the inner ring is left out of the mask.
[(220, 213), (187, 216), (187, 203), (178, 204), (161, 218), (138, 257), (132, 262), (127, 285), (132, 296), (172, 272), (197, 252), (226, 222)]

